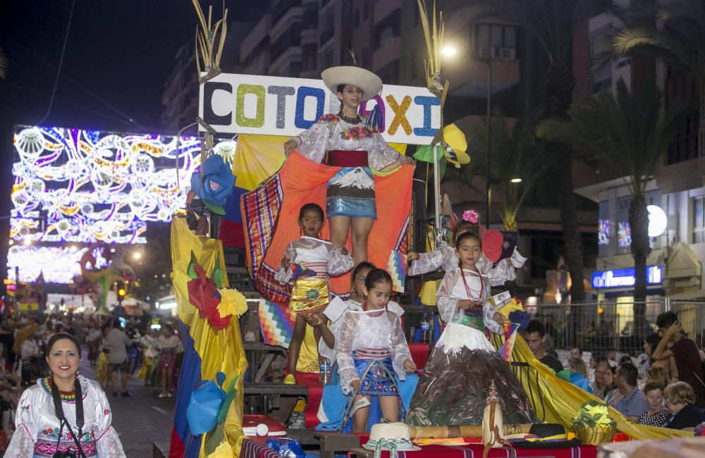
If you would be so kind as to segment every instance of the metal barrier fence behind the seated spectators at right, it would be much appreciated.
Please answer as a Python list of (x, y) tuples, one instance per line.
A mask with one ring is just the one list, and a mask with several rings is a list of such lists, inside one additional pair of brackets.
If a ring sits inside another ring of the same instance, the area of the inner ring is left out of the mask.
[[(668, 297), (648, 302), (618, 299), (616, 302), (531, 305), (527, 310), (532, 318), (544, 323), (555, 349), (579, 346), (590, 352), (636, 356), (643, 352), (644, 336), (656, 331), (658, 314), (669, 310), (678, 315), (689, 338), (701, 348), (705, 343), (705, 302), (676, 301)], [(642, 322), (643, 328), (637, 321)]]

